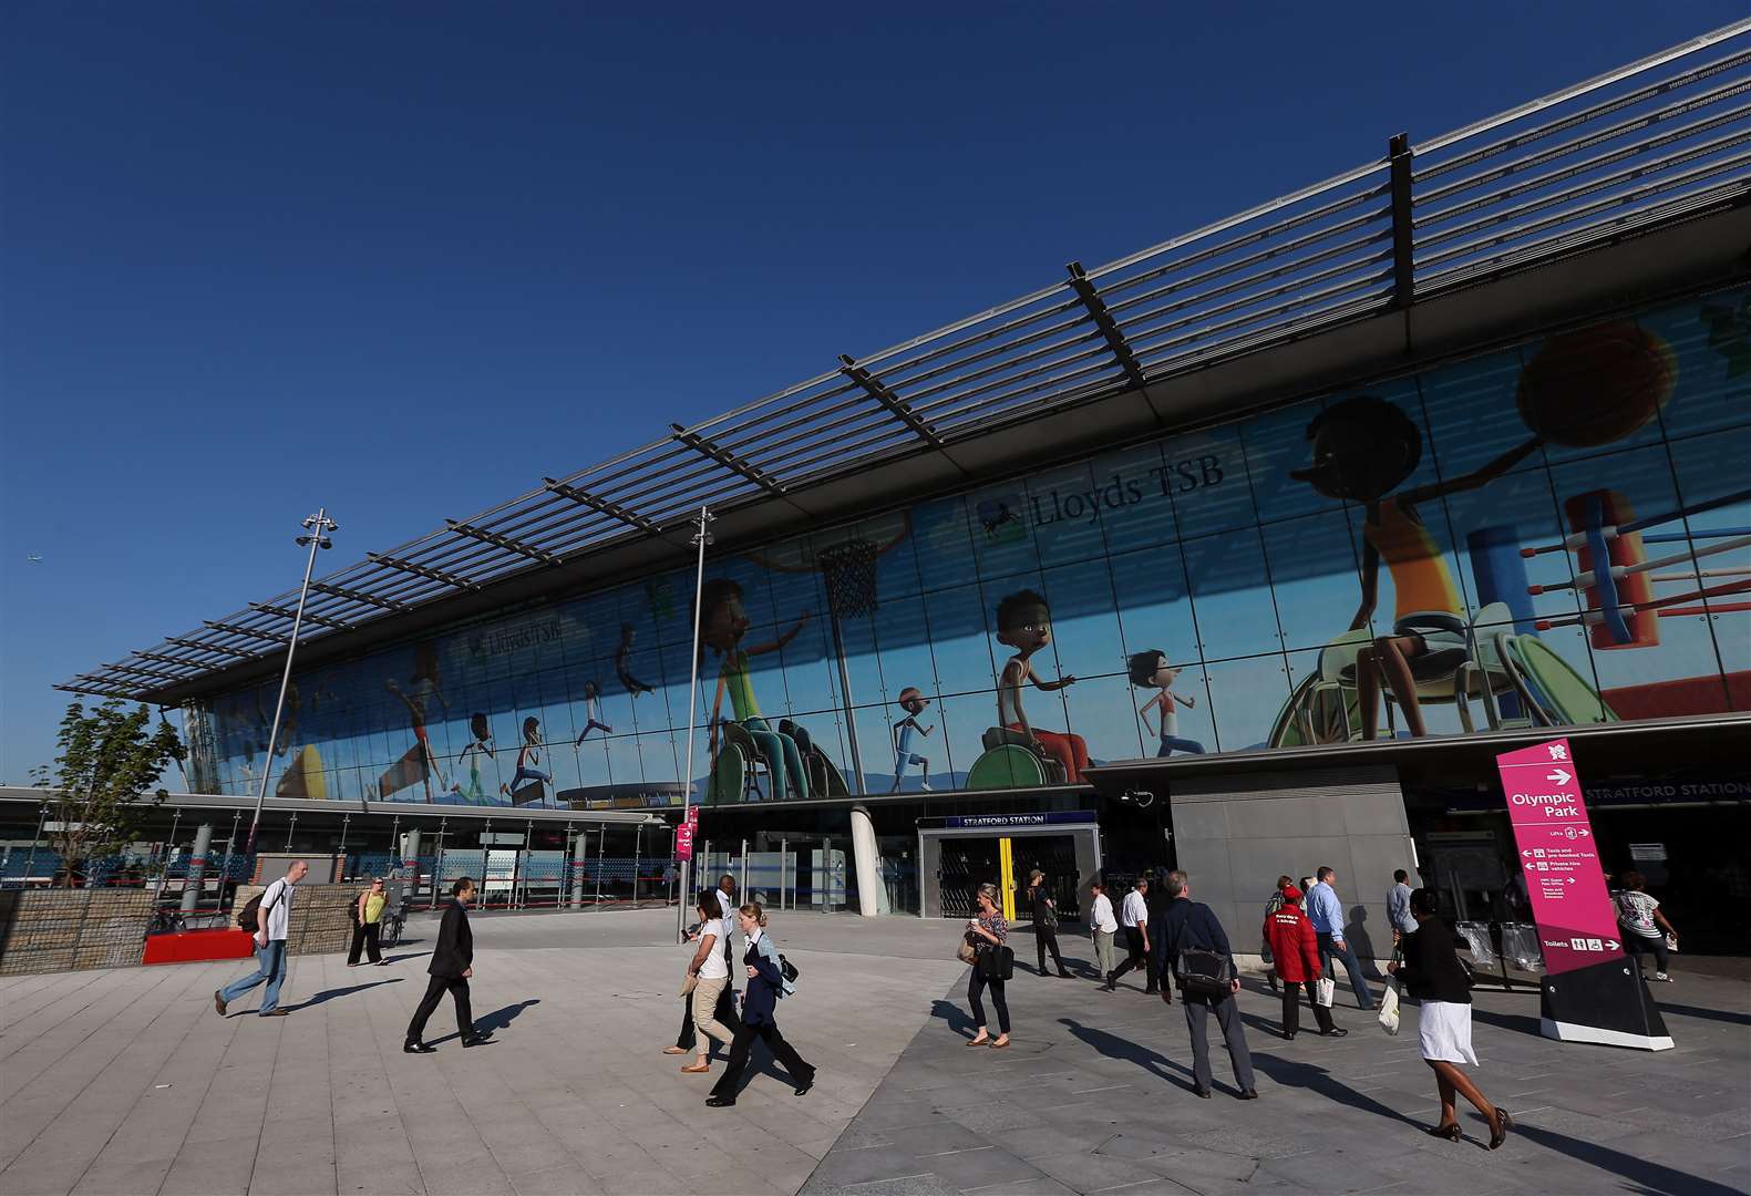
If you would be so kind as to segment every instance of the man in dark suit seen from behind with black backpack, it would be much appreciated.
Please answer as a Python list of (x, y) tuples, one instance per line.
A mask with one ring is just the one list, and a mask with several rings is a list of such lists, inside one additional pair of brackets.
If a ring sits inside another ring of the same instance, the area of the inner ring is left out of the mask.
[[(1180, 986), (1180, 1003), (1185, 1007), (1185, 1028), (1192, 1037), (1192, 1091), (1210, 1098), (1210, 1014), (1222, 1026), (1227, 1059), (1234, 1066), (1234, 1086), (1241, 1100), (1259, 1100), (1252, 1086), (1252, 1052), (1247, 1051), (1247, 1031), (1240, 1024), (1234, 993), (1240, 991), (1240, 972), (1234, 953), (1227, 946), (1222, 923), (1208, 905), (1192, 898), (1191, 881), (1184, 872), (1168, 872), (1168, 912), (1161, 919), (1163, 965)], [(1163, 1000), (1170, 988), (1161, 986)]]

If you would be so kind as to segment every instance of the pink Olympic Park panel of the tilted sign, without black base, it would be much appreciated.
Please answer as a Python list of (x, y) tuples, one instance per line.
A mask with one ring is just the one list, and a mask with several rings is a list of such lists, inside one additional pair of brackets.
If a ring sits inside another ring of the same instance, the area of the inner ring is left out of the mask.
[(1532, 900), (1544, 972), (1572, 972), (1623, 956), (1618, 916), (1606, 893), (1581, 777), (1567, 739), (1495, 756)]

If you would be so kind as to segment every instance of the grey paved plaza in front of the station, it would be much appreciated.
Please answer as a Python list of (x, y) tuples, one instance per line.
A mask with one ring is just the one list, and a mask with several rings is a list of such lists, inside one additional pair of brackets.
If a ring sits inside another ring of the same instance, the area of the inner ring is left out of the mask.
[(1340, 1009), (1348, 1038), (1285, 1044), (1275, 996), (1248, 986), (1262, 1100), (1234, 1100), (1220, 1047), (1198, 1100), (1178, 1007), (1037, 977), (1026, 933), (1016, 1045), (967, 1049), (954, 926), (905, 918), (774, 912), (802, 970), (779, 1021), (818, 1086), (797, 1100), (765, 1065), (735, 1108), (706, 1108), (711, 1077), (660, 1054), (686, 960), (672, 926), (476, 916), (494, 1042), (462, 1051), (445, 1003), (429, 1058), (401, 1052), (424, 918), (383, 968), (292, 960), (282, 1019), (214, 1012), (243, 963), (0, 981), (0, 1192), (1751, 1191), (1742, 977), (1660, 986), (1662, 1054), (1548, 1042), (1536, 995), (1480, 993), (1478, 1079), (1522, 1122), (1492, 1154), (1474, 1115), (1459, 1145), (1420, 1131), (1434, 1086), (1413, 1031)]

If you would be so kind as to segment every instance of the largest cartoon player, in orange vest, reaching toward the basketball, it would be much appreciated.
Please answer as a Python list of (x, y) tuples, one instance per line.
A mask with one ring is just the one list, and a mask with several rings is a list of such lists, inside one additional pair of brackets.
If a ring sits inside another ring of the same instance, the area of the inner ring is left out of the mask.
[(1534, 436), (1464, 476), (1392, 496), (1392, 489), (1410, 478), (1422, 459), (1422, 433), (1396, 403), (1371, 394), (1352, 396), (1315, 415), (1306, 438), (1313, 443), (1313, 464), (1292, 469), (1289, 476), (1327, 497), (1361, 503), (1364, 510), (1362, 604), (1350, 630), (1368, 627), (1375, 613), (1382, 559), (1392, 573), (1397, 599), (1392, 634), (1378, 636), (1355, 658), (1362, 739), (1375, 737), (1382, 676), (1404, 709), (1411, 735), (1425, 735), (1415, 665), (1432, 651), (1466, 650), (1467, 622), (1453, 573), (1418, 508), (1487, 485), (1513, 469), (1543, 440)]

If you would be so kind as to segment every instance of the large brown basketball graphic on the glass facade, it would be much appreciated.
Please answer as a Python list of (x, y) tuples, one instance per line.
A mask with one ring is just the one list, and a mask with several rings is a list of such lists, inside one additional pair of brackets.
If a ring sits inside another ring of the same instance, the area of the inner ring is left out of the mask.
[(1544, 440), (1597, 448), (1630, 436), (1672, 397), (1670, 345), (1627, 320), (1560, 333), (1520, 371), (1520, 419)]

